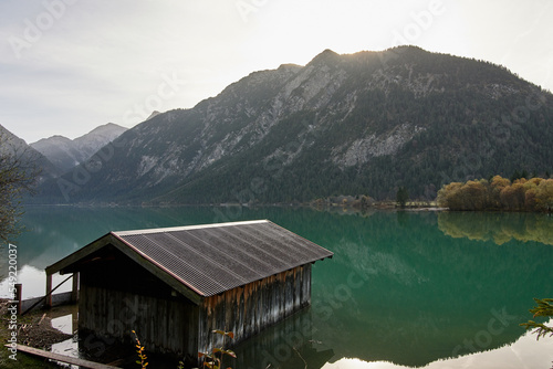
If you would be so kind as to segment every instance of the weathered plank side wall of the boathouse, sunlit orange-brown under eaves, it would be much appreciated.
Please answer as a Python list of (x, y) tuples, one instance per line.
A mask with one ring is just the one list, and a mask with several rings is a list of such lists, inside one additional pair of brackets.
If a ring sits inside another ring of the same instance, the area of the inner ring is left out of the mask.
[(208, 297), (199, 310), (198, 347), (209, 352), (222, 344), (213, 329), (232, 331), (236, 345), (310, 304), (311, 264)]

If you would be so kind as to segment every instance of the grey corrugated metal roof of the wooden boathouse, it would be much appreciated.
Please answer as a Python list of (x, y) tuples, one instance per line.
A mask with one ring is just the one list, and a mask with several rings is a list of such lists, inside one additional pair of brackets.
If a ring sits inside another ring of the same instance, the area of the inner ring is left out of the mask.
[(112, 234), (201, 296), (333, 255), (267, 220)]

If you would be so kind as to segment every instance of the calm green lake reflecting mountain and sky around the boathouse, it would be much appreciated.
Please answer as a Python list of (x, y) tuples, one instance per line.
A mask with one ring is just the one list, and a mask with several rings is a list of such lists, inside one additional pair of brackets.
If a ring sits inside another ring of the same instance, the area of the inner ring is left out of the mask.
[(519, 326), (532, 318), (534, 297), (553, 297), (553, 217), (545, 214), (29, 208), (14, 242), (23, 296), (42, 295), (45, 266), (108, 231), (253, 219), (334, 257), (314, 264), (312, 306), (237, 347), (238, 359), (227, 362), (234, 369), (551, 367), (553, 338), (536, 341)]

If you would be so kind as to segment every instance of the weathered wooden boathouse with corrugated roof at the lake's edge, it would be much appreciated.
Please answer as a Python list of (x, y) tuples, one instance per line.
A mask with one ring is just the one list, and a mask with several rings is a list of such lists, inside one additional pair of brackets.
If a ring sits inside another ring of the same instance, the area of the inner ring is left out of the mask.
[(311, 265), (332, 255), (268, 220), (109, 232), (46, 281), (74, 273), (81, 337), (131, 342), (136, 330), (150, 352), (196, 362), (220, 345), (212, 329), (237, 344), (309, 306)]

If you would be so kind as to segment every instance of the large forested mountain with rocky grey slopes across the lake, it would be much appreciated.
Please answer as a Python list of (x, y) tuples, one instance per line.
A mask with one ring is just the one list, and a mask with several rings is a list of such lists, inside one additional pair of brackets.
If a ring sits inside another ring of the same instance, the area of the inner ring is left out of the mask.
[(434, 198), (452, 180), (552, 172), (552, 143), (553, 96), (502, 66), (413, 46), (326, 50), (152, 117), (44, 193), (267, 203), (393, 199), (404, 186), (411, 198)]

